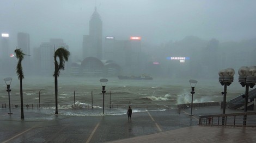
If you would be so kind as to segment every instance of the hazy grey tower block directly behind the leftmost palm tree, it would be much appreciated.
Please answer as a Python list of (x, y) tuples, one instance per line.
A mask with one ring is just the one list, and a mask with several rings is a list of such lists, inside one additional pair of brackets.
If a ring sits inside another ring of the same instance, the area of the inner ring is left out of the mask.
[[(30, 41), (29, 41), (29, 34), (25, 32), (19, 32), (17, 34), (17, 48), (22, 49), (23, 53), (26, 55), (30, 54)], [(22, 62), (22, 67), (24, 70), (30, 71), (31, 69), (31, 61), (30, 56), (24, 57), (24, 60)]]

